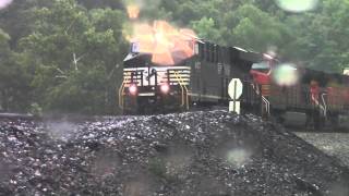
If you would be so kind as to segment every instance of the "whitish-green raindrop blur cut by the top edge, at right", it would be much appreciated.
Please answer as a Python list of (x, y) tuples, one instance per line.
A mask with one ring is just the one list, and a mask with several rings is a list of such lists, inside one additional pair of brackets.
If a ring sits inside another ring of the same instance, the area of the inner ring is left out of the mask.
[(318, 0), (276, 0), (276, 3), (289, 12), (305, 12), (314, 10)]

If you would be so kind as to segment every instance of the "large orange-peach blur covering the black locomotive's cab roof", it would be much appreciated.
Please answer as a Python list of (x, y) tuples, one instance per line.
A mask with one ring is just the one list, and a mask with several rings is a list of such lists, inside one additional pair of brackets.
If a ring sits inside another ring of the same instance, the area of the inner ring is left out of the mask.
[(196, 34), (192, 29), (178, 29), (166, 21), (134, 24), (133, 28), (134, 51), (152, 53), (153, 63), (173, 65), (194, 56)]

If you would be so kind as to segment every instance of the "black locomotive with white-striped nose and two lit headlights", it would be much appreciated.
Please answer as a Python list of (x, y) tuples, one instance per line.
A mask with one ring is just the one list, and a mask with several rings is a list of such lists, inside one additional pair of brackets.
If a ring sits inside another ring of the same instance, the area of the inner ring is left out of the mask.
[[(196, 42), (194, 50), (193, 57), (174, 65), (154, 64), (149, 53), (129, 53), (119, 89), (119, 105), (124, 113), (227, 106), (231, 100), (227, 90), (231, 78), (250, 79), (252, 64), (272, 60), (257, 52), (212, 42)], [(257, 99), (254, 94), (249, 96)], [(251, 98), (249, 102), (254, 105)]]

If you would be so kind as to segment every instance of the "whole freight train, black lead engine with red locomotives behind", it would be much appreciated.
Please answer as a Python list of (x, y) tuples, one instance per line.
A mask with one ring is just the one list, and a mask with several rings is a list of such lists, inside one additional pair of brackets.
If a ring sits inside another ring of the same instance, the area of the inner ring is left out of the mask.
[[(294, 84), (279, 84), (280, 60), (267, 53), (197, 40), (194, 54), (176, 64), (152, 62), (152, 53), (133, 51), (123, 61), (118, 89), (124, 114), (154, 114), (227, 107), (229, 84), (241, 81), (241, 113), (255, 113), (282, 122), (286, 112), (306, 114), (306, 126), (338, 123), (349, 112), (349, 76), (289, 66)], [(296, 81), (296, 79), (294, 79)], [(236, 101), (236, 100), (233, 100)]]

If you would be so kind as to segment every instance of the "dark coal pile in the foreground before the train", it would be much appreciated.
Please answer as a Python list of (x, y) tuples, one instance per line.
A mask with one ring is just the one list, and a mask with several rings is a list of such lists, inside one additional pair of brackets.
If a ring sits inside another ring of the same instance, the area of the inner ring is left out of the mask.
[(225, 111), (0, 122), (0, 195), (349, 195), (349, 170)]

